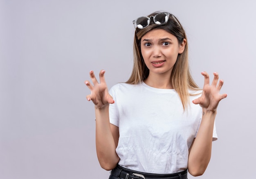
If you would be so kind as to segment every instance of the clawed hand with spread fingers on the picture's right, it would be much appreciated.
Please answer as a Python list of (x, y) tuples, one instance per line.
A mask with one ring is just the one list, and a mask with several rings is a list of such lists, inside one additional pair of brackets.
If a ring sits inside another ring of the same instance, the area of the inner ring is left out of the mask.
[(201, 74), (204, 76), (204, 87), (202, 96), (193, 100), (193, 103), (199, 104), (202, 108), (205, 108), (207, 111), (215, 112), (217, 110), (220, 100), (227, 97), (227, 94), (220, 94), (220, 89), (223, 85), (223, 80), (220, 80), (218, 83), (219, 75), (218, 73), (214, 72), (214, 79), (210, 85), (209, 74), (207, 72), (202, 72)]

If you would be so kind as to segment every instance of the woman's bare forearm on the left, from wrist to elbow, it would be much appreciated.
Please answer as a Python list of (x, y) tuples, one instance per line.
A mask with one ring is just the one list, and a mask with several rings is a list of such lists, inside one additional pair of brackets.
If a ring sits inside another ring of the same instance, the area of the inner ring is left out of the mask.
[(117, 165), (119, 157), (115, 151), (117, 146), (110, 129), (108, 107), (95, 108), (96, 151), (101, 167), (112, 170)]

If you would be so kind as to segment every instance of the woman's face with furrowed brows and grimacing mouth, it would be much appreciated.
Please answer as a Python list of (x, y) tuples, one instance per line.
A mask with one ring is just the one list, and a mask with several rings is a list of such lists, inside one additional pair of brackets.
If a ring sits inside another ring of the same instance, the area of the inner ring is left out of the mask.
[(179, 53), (184, 51), (186, 39), (179, 44), (177, 37), (163, 29), (149, 31), (141, 38), (141, 54), (149, 69), (149, 75), (168, 74)]

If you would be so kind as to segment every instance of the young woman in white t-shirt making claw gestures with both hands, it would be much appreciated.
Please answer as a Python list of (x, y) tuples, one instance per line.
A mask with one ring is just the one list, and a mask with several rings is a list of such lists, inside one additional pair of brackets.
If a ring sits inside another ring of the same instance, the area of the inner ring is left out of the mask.
[(171, 13), (133, 21), (134, 66), (126, 83), (110, 92), (90, 71), (87, 99), (95, 105), (96, 148), (110, 179), (186, 179), (202, 175), (217, 139), (215, 117), (223, 81), (207, 72), (200, 90), (189, 72), (184, 28)]

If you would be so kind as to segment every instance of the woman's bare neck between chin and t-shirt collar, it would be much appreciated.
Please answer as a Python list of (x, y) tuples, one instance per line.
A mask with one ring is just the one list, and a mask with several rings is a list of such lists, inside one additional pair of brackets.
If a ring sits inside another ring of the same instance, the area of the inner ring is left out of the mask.
[(168, 75), (148, 75), (148, 78), (144, 80), (148, 86), (159, 88), (159, 89), (173, 89), (171, 85), (171, 76)]

